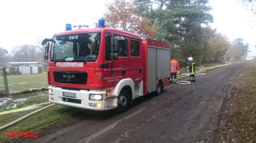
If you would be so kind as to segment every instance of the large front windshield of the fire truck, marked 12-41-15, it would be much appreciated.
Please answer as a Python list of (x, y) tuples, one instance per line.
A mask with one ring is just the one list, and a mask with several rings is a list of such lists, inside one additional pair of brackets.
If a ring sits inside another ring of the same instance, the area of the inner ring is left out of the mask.
[(61, 35), (53, 38), (51, 61), (97, 60), (100, 51), (101, 33)]

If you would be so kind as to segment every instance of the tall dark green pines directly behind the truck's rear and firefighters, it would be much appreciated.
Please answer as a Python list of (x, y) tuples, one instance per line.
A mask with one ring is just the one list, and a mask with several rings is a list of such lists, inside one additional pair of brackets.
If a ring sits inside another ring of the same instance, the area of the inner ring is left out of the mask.
[[(157, 40), (172, 43), (172, 55), (186, 60), (192, 56), (200, 64), (204, 59), (204, 27), (213, 21), (208, 0), (137, 0), (142, 16), (159, 27)], [(153, 8), (152, 5), (158, 5)], [(174, 56), (172, 56), (174, 57)]]

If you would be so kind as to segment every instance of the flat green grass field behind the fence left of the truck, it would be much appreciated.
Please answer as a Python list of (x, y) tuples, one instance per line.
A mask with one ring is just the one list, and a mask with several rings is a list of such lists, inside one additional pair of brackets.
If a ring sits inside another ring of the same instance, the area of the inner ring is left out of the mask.
[[(10, 93), (48, 87), (47, 72), (40, 74), (8, 75), (7, 81)], [(0, 91), (1, 90), (4, 90), (3, 76), (0, 76)]]

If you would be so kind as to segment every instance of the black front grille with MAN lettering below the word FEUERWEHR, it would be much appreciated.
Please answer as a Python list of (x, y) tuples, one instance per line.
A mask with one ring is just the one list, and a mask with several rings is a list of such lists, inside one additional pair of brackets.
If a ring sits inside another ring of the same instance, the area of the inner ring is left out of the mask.
[(86, 84), (87, 71), (54, 70), (54, 81), (59, 83)]

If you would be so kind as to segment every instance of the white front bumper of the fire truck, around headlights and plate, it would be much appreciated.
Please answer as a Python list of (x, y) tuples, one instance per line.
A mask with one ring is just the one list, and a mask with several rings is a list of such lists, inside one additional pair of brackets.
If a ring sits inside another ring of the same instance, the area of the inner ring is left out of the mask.
[[(117, 107), (118, 99), (115, 98), (107, 98), (106, 99), (106, 91), (104, 90), (70, 90), (70, 89), (63, 89), (61, 87), (56, 86), (49, 86), (49, 89), (52, 89), (53, 95), (49, 94), (49, 101), (55, 104), (72, 106), (76, 108), (84, 108), (84, 109), (91, 109), (91, 110), (108, 110)], [(62, 95), (63, 92), (67, 93), (74, 93), (76, 97), (65, 97)], [(90, 94), (103, 94), (103, 101), (92, 101), (89, 100)], [(101, 107), (92, 107), (92, 104), (102, 104)]]

